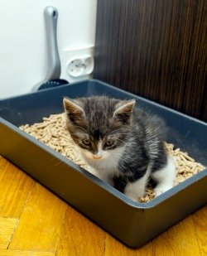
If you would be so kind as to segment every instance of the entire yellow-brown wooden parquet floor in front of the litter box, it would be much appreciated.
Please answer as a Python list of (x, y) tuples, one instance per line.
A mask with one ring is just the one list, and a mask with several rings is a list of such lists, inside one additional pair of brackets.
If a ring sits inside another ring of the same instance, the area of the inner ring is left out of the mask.
[(0, 156), (0, 255), (207, 255), (207, 206), (128, 249)]

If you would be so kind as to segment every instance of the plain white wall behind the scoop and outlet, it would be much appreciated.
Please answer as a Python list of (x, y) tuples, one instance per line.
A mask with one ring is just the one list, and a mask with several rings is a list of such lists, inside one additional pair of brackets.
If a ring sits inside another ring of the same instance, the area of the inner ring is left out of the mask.
[(64, 48), (94, 45), (96, 0), (0, 0), (0, 99), (30, 92), (46, 76), (46, 6), (59, 12), (60, 60)]

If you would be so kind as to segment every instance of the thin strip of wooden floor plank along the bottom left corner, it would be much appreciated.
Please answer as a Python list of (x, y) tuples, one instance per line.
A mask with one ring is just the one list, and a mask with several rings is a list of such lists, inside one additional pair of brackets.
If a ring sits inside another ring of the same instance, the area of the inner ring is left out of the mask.
[(0, 249), (1, 256), (55, 256), (54, 253), (50, 252), (32, 252), (32, 251), (21, 251), (11, 249)]

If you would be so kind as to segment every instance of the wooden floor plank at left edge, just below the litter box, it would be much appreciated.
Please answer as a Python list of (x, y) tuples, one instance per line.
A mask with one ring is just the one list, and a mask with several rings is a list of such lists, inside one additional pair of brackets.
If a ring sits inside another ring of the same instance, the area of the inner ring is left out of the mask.
[(0, 216), (19, 218), (35, 181), (0, 156)]

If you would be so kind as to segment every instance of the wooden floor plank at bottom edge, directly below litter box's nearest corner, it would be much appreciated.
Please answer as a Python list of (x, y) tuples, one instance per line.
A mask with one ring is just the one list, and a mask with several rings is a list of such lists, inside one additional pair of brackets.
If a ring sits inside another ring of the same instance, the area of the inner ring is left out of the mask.
[(104, 256), (152, 256), (152, 243), (149, 242), (140, 249), (130, 249), (124, 244), (107, 234)]

